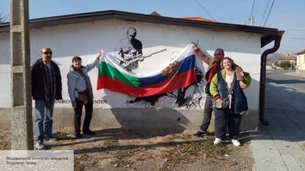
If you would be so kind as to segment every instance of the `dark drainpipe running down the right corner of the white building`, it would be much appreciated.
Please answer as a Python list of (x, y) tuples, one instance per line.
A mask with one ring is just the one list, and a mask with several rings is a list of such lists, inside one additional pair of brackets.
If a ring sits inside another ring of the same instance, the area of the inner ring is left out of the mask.
[(268, 125), (268, 121), (265, 120), (265, 90), (266, 90), (266, 61), (267, 56), (276, 52), (279, 48), (280, 41), (284, 32), (279, 32), (274, 38), (274, 47), (267, 49), (261, 56), (261, 75), (260, 75), (260, 91), (259, 91), (259, 120), (263, 125)]

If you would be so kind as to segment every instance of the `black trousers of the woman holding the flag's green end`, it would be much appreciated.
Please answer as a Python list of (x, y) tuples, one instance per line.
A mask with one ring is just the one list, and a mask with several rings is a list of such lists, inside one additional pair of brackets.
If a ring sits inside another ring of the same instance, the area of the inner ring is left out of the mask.
[(84, 133), (89, 131), (90, 128), (90, 122), (93, 112), (93, 102), (90, 102), (87, 105), (84, 105), (84, 102), (79, 101), (78, 99), (75, 99), (75, 102), (76, 102), (76, 108), (74, 108), (74, 133), (80, 134), (83, 106), (85, 106), (85, 120), (83, 124), (83, 133)]

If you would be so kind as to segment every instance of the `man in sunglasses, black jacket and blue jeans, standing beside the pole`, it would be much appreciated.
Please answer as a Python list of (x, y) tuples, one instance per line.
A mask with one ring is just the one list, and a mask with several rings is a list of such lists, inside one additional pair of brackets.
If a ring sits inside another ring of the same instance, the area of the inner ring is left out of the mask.
[(43, 149), (43, 141), (52, 138), (52, 115), (55, 99), (62, 99), (61, 72), (52, 60), (51, 48), (41, 49), (41, 58), (31, 66), (32, 97), (35, 100), (36, 148)]

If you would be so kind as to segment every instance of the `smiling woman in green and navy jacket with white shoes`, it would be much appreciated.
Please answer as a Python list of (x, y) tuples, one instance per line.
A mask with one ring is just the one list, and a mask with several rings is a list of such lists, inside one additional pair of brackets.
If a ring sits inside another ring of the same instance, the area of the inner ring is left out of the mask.
[[(236, 80), (236, 73), (234, 72), (236, 64), (234, 61), (230, 57), (224, 57), (220, 64), (224, 69), (213, 76), (210, 92), (216, 102), (228, 99), (229, 106), (225, 109), (214, 108), (216, 137), (214, 144), (219, 144), (224, 139), (228, 125), (232, 143), (235, 146), (240, 146), (241, 143), (237, 140), (237, 137), (242, 114), (248, 110), (247, 99)], [(240, 74), (244, 77), (244, 83), (249, 85), (251, 82), (250, 75), (243, 71)]]

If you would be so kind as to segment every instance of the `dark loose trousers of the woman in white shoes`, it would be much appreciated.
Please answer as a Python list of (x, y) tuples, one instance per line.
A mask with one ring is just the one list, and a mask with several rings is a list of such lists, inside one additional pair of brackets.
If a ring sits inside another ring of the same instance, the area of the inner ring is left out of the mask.
[(214, 109), (215, 114), (215, 137), (223, 140), (226, 136), (227, 126), (229, 127), (229, 135), (233, 140), (237, 140), (240, 132), (240, 125), (243, 115), (232, 114), (229, 109)]

